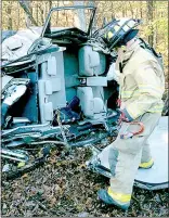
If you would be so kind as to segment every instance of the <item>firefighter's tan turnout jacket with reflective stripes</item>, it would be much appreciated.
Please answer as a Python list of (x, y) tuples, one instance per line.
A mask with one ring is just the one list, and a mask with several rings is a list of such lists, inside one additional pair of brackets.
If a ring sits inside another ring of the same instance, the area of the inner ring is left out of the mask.
[(120, 70), (119, 66), (122, 67), (119, 95), (127, 117), (135, 119), (146, 112), (161, 113), (165, 77), (156, 57), (136, 40), (120, 53), (116, 69)]

